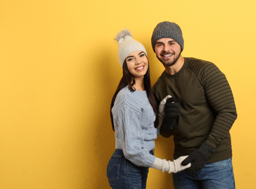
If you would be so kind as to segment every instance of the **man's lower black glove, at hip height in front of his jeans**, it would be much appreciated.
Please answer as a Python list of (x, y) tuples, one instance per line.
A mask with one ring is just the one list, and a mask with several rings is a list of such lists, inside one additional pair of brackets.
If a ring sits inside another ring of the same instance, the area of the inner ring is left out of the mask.
[(186, 169), (188, 172), (198, 172), (204, 168), (204, 165), (207, 163), (209, 155), (215, 151), (211, 145), (208, 145), (207, 142), (203, 142), (198, 150), (194, 150), (188, 158), (185, 158), (181, 164), (183, 166), (191, 163), (191, 167)]

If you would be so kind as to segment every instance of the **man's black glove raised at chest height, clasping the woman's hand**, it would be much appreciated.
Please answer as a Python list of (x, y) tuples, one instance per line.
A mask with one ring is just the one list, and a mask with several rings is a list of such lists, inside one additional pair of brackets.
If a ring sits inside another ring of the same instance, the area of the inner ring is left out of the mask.
[(178, 100), (175, 100), (174, 97), (168, 98), (164, 108), (164, 120), (161, 127), (163, 127), (164, 129), (173, 130), (175, 127), (177, 116), (179, 115), (180, 102), (178, 102)]

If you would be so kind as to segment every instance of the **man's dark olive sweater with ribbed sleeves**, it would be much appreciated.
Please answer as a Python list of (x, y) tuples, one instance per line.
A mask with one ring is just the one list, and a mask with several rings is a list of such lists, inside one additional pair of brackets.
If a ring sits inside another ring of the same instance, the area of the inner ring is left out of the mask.
[(169, 75), (162, 73), (153, 85), (156, 101), (167, 94), (180, 100), (180, 116), (173, 131), (174, 158), (189, 155), (206, 141), (215, 148), (207, 163), (232, 157), (230, 129), (236, 120), (236, 106), (225, 75), (213, 63), (185, 57), (183, 68)]

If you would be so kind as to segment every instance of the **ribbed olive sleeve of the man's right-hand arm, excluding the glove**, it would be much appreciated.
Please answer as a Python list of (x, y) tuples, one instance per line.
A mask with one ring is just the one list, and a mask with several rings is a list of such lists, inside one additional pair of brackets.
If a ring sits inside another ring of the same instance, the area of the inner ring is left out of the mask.
[(228, 80), (216, 65), (207, 65), (202, 84), (209, 105), (216, 113), (215, 122), (206, 142), (216, 148), (237, 118), (236, 105)]

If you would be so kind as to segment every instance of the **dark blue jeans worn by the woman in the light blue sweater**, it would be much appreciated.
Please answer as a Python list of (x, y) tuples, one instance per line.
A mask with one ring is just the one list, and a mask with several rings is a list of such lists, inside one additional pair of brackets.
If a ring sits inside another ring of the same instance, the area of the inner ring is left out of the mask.
[[(153, 151), (150, 153), (153, 154)], [(116, 149), (108, 161), (107, 177), (114, 189), (145, 189), (148, 167), (132, 164), (121, 149)]]

